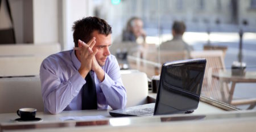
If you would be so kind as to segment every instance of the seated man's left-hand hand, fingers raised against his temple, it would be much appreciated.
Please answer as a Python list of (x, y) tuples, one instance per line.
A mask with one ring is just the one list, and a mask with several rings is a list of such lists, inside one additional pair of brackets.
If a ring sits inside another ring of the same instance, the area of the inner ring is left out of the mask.
[(81, 62), (81, 66), (79, 69), (79, 73), (83, 78), (89, 73), (90, 70), (92, 70), (92, 59), (95, 57), (95, 54), (98, 52), (98, 50), (92, 50), (93, 46), (96, 44), (95, 37), (93, 37), (92, 40), (88, 42), (88, 44), (85, 44), (85, 42), (79, 40), (79, 47), (75, 47), (75, 50), (79, 51), (79, 59)]

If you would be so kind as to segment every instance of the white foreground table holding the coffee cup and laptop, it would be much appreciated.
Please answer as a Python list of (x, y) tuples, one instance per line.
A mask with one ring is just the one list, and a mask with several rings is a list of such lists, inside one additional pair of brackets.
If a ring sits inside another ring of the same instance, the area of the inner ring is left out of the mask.
[[(148, 98), (151, 101), (156, 99), (156, 93), (149, 92)], [(36, 117), (42, 118), (43, 121), (40, 122), (16, 122), (15, 118), (19, 118), (16, 113), (6, 113), (0, 114), (0, 131), (2, 130), (37, 130), (41, 129), (63, 129), (67, 127), (68, 129), (74, 129), (77, 127), (87, 127), (87, 126), (105, 126), (105, 127), (115, 127), (115, 126), (134, 126), (134, 125), (149, 125), (149, 124), (161, 124), (162, 122), (174, 122), (174, 121), (190, 121), (190, 120), (209, 120), (216, 119), (220, 116), (213, 116), (213, 114), (225, 114), (226, 110), (214, 107), (204, 101), (200, 101), (199, 107), (192, 114), (170, 114), (164, 116), (151, 116), (151, 117), (125, 117), (125, 118), (114, 118), (109, 114), (110, 109), (99, 109), (99, 110), (73, 110), (73, 111), (63, 111), (60, 114), (50, 114), (44, 112), (36, 113)], [(256, 112), (254, 112), (256, 113)], [(208, 115), (209, 114), (209, 115)], [(227, 113), (228, 114), (228, 113)], [(67, 120), (61, 121), (61, 117), (68, 116), (104, 116), (100, 120), (84, 120), (75, 121)], [(208, 115), (208, 116), (206, 116)], [(230, 118), (233, 116), (222, 115), (222, 117)], [(237, 117), (237, 116), (234, 116)], [(239, 116), (240, 117), (240, 116)], [(251, 117), (251, 114), (245, 115), (245, 117)], [(256, 114), (255, 114), (256, 120)]]

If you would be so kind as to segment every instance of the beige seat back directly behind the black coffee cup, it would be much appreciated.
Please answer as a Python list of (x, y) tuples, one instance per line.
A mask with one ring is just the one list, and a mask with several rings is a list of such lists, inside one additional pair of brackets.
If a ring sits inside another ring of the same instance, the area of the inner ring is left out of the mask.
[(14, 113), (19, 108), (36, 108), (38, 112), (43, 112), (38, 76), (0, 78), (0, 113)]

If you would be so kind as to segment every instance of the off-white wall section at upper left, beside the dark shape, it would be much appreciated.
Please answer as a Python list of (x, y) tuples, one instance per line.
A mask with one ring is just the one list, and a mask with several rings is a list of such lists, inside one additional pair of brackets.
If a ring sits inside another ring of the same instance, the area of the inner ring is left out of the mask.
[(58, 1), (33, 0), (34, 44), (59, 42)]

